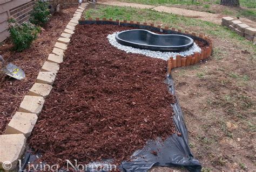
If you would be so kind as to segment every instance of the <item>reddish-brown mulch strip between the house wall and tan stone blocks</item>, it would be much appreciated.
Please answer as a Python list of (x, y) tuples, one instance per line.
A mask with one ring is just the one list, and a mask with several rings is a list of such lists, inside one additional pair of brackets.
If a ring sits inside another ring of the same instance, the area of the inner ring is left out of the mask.
[(7, 62), (12, 62), (21, 67), (26, 78), (18, 81), (8, 76), (0, 76), (0, 134), (3, 134), (6, 125), (18, 110), (24, 95), (32, 87), (44, 61), (51, 53), (56, 40), (64, 31), (65, 26), (73, 16), (76, 7), (70, 7), (56, 13), (51, 17), (29, 49), (23, 52), (11, 51), (10, 40), (0, 46), (0, 54)]

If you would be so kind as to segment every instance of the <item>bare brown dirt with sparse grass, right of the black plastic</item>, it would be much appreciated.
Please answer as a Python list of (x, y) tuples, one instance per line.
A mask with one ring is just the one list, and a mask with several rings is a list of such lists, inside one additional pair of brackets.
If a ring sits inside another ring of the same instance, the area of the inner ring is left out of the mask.
[(206, 171), (254, 170), (255, 52), (244, 53), (237, 42), (212, 40), (207, 62), (172, 73), (190, 147)]

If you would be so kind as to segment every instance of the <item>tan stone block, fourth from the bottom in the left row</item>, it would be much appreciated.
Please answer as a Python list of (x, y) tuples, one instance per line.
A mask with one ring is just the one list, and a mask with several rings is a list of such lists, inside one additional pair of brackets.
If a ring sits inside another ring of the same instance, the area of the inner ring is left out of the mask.
[(51, 93), (52, 86), (49, 84), (35, 83), (29, 90), (30, 96), (42, 96), (47, 98)]

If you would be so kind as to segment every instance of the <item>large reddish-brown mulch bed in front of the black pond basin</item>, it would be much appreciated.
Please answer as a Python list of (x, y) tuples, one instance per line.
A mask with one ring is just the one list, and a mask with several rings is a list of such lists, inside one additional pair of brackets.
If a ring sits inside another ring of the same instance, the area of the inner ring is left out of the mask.
[[(129, 160), (146, 141), (175, 132), (167, 62), (127, 54), (108, 34), (131, 29), (77, 26), (29, 145), (48, 164)], [(41, 161), (40, 160), (40, 161)]]

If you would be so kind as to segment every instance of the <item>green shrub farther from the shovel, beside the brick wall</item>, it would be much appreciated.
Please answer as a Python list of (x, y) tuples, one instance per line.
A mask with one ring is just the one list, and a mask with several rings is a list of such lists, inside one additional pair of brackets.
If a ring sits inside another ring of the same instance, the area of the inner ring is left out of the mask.
[(40, 26), (47, 23), (50, 17), (50, 10), (48, 9), (48, 6), (49, 4), (47, 2), (36, 2), (32, 12), (30, 13), (30, 22)]

